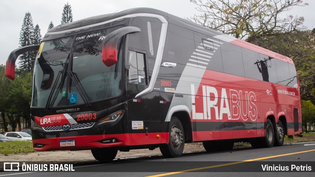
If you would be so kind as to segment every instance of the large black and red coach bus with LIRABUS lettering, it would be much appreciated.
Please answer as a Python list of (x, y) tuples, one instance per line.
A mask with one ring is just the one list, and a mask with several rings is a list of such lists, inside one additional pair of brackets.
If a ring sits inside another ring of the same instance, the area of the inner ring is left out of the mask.
[(35, 150), (160, 148), (177, 157), (185, 143), (207, 151), (282, 146), (302, 132), (292, 59), (151, 8), (99, 15), (50, 29), (33, 71)]

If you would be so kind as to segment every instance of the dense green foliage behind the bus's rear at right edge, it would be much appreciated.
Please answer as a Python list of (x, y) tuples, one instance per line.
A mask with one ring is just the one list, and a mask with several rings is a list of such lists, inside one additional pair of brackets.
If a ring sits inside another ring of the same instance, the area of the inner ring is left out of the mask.
[(257, 38), (255, 43), (293, 59), (299, 74), (301, 97), (315, 103), (315, 36), (312, 31), (275, 33)]

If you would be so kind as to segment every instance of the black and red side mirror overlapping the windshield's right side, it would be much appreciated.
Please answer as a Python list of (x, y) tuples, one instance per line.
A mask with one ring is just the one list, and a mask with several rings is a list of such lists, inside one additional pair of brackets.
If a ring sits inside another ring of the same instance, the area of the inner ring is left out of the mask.
[(128, 33), (140, 32), (140, 31), (141, 29), (137, 27), (123, 27), (109, 33), (103, 40), (103, 47), (102, 47), (103, 63), (108, 67), (116, 64), (118, 60), (117, 59), (118, 40)]

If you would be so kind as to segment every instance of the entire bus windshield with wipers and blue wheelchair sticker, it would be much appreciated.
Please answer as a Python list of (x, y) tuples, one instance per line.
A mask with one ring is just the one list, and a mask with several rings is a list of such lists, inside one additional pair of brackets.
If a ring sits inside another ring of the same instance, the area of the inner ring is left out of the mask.
[[(107, 67), (101, 58), (103, 39), (115, 29), (44, 41), (34, 66), (32, 107), (84, 104), (85, 99), (93, 102), (120, 95), (122, 59)], [(120, 49), (118, 58), (122, 58)]]

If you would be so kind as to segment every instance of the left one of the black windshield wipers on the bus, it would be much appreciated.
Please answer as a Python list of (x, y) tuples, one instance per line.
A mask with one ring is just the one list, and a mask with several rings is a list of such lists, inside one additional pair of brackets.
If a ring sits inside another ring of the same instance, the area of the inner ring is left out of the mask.
[[(60, 91), (62, 91), (63, 83), (64, 83), (65, 76), (66, 76), (66, 70), (67, 70), (67, 67), (68, 67), (69, 58), (70, 58), (70, 54), (68, 54), (67, 59), (64, 62), (63, 70), (60, 70), (58, 72), (58, 75), (57, 75), (57, 78), (56, 78), (56, 80), (54, 82), (53, 88), (51, 89), (51, 91), (49, 93), (49, 96), (48, 96), (48, 99), (47, 99), (47, 103), (46, 103), (46, 106), (45, 106), (45, 111), (48, 111), (48, 108), (49, 108), (49, 105), (50, 105), (50, 102), (51, 102), (51, 98), (53, 97), (54, 91), (56, 89), (56, 86), (57, 86), (57, 83), (58, 83), (60, 77), (62, 77), (62, 81), (60, 82), (60, 85), (59, 85), (58, 88), (60, 89)], [(53, 102), (55, 102), (56, 98), (57, 98), (57, 94), (55, 95)]]

